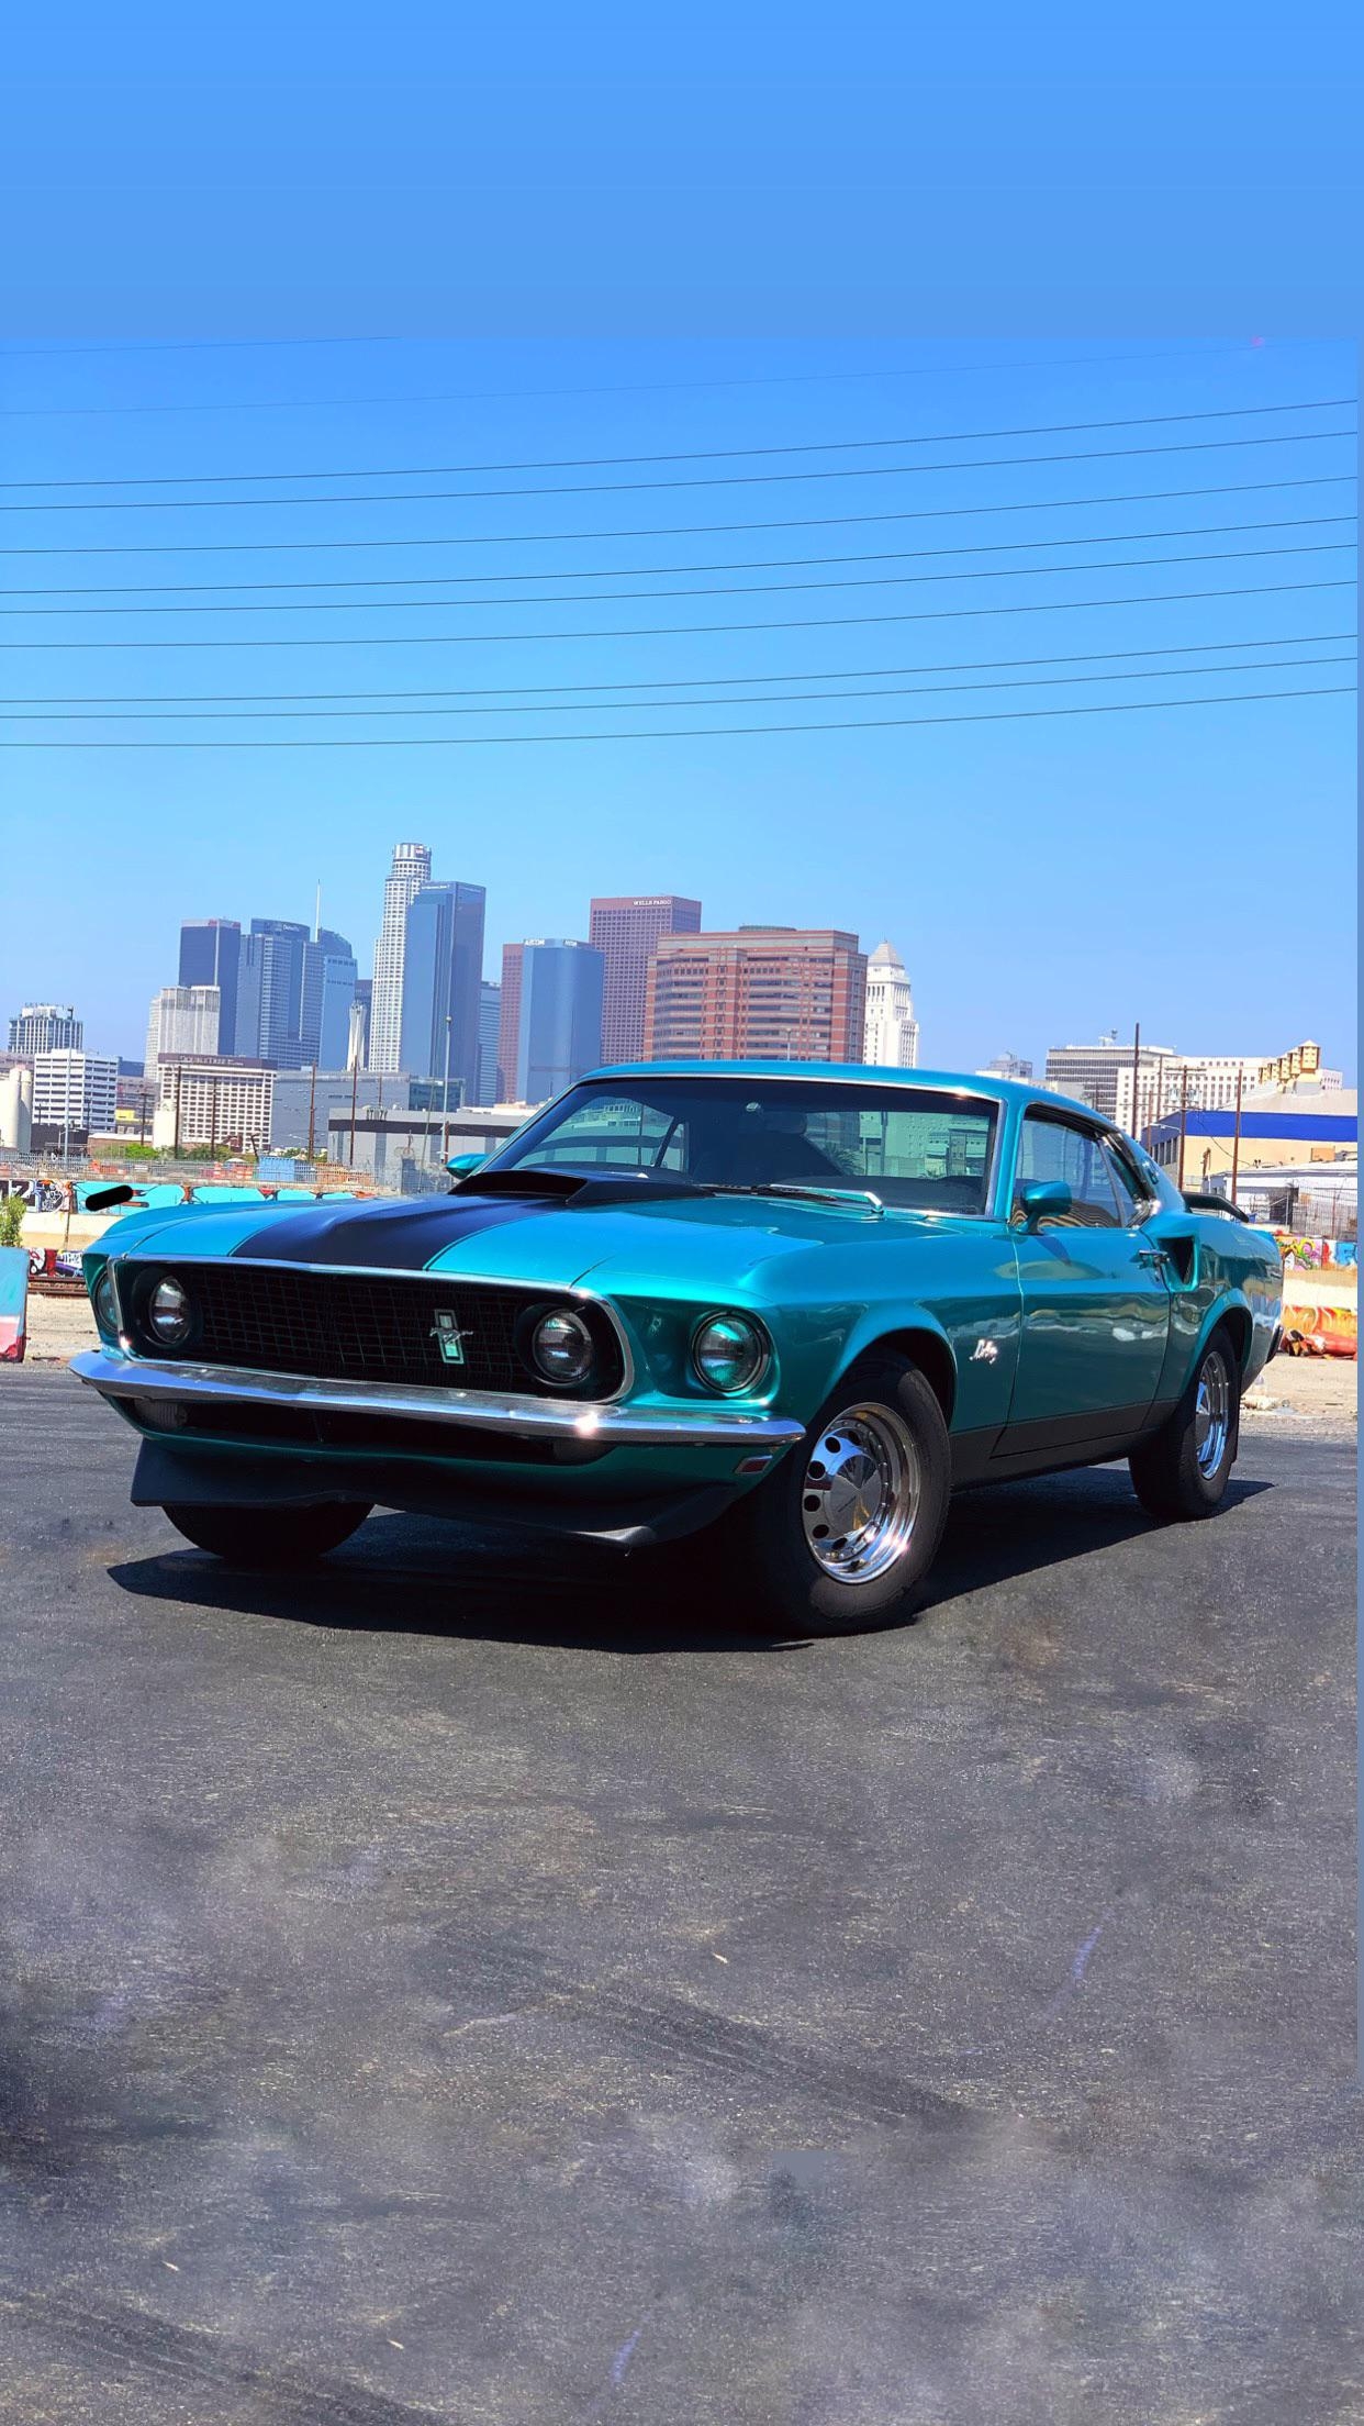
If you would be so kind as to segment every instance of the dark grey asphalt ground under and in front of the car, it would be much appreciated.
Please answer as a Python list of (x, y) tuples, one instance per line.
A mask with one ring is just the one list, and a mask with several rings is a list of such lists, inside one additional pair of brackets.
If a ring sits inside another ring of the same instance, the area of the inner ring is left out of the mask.
[(1364, 2416), (1347, 1439), (835, 1642), (131, 1458), (0, 1383), (5, 2421)]

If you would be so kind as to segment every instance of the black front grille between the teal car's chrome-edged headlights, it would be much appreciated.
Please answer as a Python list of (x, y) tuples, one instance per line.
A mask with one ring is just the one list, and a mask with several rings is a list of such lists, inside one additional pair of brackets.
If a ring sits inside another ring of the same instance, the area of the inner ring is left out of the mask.
[[(621, 1383), (616, 1334), (595, 1305), (575, 1308), (597, 1344), (590, 1388), (556, 1390), (522, 1359), (517, 1342), (534, 1315), (563, 1303), (553, 1291), (536, 1295), (527, 1288), (471, 1288), (386, 1271), (301, 1271), (265, 1262), (148, 1264), (133, 1283), (133, 1327), (141, 1349), (158, 1359), (170, 1351), (146, 1327), (143, 1308), (165, 1276), (180, 1281), (194, 1310), (189, 1339), (172, 1351), (187, 1363), (541, 1397), (609, 1397)], [(454, 1327), (464, 1334), (461, 1363), (442, 1356), (437, 1312), (454, 1315)]]

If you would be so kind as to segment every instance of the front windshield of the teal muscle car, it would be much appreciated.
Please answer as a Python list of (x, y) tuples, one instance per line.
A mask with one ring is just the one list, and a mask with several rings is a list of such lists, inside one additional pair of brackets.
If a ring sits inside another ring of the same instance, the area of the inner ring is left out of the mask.
[(932, 1087), (801, 1077), (631, 1077), (575, 1087), (493, 1169), (655, 1172), (706, 1189), (874, 1189), (983, 1213), (998, 1106)]

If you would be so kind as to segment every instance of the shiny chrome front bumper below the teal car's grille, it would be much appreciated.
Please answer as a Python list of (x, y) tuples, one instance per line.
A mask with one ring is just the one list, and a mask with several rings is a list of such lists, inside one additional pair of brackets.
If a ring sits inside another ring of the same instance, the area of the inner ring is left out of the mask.
[[(444, 1390), (425, 1383), (383, 1388), (364, 1380), (308, 1380), (299, 1373), (248, 1373), (235, 1366), (153, 1363), (107, 1349), (73, 1356), (78, 1380), (102, 1397), (172, 1397), (187, 1407), (240, 1400), (301, 1412), (420, 1417), (466, 1431), (502, 1431), (522, 1441), (590, 1441), (599, 1448), (786, 1448), (803, 1424), (789, 1414), (745, 1414), (743, 1407), (582, 1405), (582, 1400), (522, 1397), (500, 1390)], [(454, 1448), (454, 1443), (451, 1443)]]

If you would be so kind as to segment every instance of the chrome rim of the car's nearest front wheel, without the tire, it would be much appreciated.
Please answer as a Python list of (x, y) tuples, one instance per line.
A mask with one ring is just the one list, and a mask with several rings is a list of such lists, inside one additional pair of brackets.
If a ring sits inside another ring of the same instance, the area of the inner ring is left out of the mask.
[(815, 1565), (840, 1584), (871, 1584), (905, 1555), (920, 1511), (920, 1458), (891, 1407), (845, 1407), (820, 1431), (801, 1485)]

